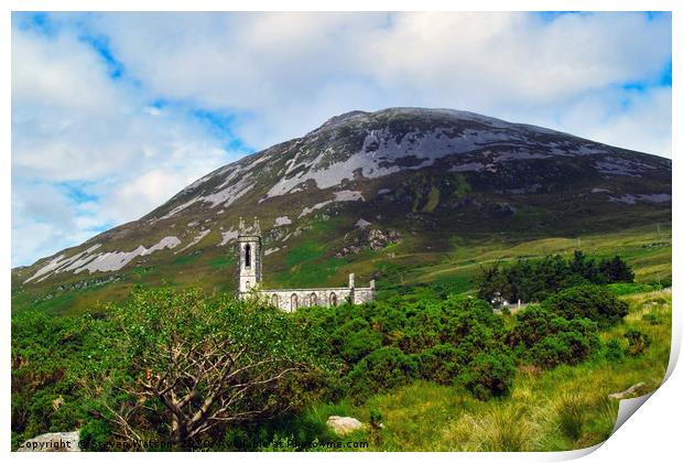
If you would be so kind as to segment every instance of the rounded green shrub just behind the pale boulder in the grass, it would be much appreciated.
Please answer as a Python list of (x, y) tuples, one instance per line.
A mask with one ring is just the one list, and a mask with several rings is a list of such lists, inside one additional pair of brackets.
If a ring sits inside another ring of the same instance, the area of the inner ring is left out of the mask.
[(351, 392), (365, 398), (409, 383), (418, 376), (414, 359), (397, 347), (382, 347), (364, 357), (348, 375)]

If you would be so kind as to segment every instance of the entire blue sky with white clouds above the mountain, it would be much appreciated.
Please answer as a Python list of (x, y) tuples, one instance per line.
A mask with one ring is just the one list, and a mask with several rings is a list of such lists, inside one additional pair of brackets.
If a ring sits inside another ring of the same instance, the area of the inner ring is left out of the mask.
[(12, 267), (332, 116), (469, 110), (671, 158), (671, 14), (12, 13)]

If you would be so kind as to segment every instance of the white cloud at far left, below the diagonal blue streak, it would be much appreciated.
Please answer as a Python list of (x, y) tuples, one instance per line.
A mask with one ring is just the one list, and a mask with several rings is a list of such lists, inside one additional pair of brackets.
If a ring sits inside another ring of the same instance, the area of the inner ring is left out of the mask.
[[(12, 136), (14, 265), (135, 219), (230, 161), (230, 140), (181, 110), (150, 107), (68, 30), (13, 30)], [(51, 186), (64, 182), (97, 200)]]

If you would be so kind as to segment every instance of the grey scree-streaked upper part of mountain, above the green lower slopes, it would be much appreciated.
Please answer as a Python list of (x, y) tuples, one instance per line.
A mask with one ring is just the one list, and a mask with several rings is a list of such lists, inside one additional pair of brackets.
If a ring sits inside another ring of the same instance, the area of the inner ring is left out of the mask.
[[(316, 229), (328, 230), (330, 256), (362, 259), (381, 251), (366, 243), (414, 244), (414, 229), (419, 240), (531, 233), (571, 228), (581, 223), (573, 214), (603, 211), (604, 218), (624, 207), (670, 205), (666, 159), (467, 111), (357, 110), (225, 165), (141, 219), (13, 276), (42, 284), (223, 254), (237, 239), (240, 216), (259, 216), (267, 262), (283, 262)], [(536, 217), (532, 228), (529, 217)], [(375, 239), (380, 235), (389, 238)]]

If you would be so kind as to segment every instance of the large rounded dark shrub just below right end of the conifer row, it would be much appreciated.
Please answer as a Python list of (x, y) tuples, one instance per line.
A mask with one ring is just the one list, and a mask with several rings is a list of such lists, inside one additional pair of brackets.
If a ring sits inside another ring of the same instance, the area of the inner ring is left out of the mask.
[(583, 284), (560, 291), (543, 301), (543, 308), (567, 320), (589, 319), (600, 327), (619, 323), (628, 313), (628, 304), (609, 290)]

